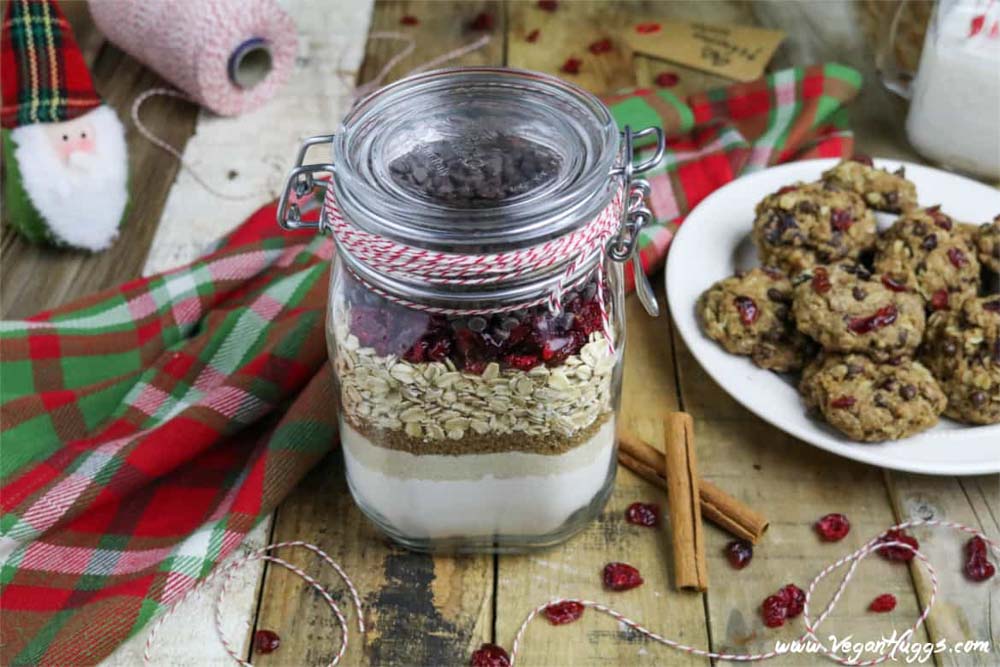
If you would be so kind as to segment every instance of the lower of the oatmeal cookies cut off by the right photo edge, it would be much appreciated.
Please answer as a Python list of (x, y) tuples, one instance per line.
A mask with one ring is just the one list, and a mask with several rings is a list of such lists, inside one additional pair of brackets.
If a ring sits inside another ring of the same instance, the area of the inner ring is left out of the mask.
[(920, 359), (948, 397), (946, 415), (969, 424), (1000, 422), (1000, 296), (931, 315)]

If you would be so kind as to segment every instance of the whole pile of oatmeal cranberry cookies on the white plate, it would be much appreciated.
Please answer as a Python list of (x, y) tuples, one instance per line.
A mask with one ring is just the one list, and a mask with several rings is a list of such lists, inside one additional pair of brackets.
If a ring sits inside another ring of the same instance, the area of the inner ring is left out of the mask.
[[(874, 211), (898, 213), (881, 234)], [(698, 301), (705, 333), (761, 368), (801, 371), (806, 405), (854, 440), (1000, 422), (1000, 216), (920, 208), (902, 169), (855, 158), (768, 195), (764, 266)]]

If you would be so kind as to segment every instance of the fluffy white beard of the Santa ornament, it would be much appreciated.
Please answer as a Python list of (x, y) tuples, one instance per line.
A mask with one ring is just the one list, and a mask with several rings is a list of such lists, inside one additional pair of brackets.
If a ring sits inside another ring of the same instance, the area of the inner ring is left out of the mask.
[(42, 124), (11, 131), (14, 159), (32, 205), (52, 235), (66, 245), (98, 251), (118, 236), (128, 203), (125, 130), (115, 112), (101, 105), (81, 118), (93, 127), (94, 152), (59, 159)]

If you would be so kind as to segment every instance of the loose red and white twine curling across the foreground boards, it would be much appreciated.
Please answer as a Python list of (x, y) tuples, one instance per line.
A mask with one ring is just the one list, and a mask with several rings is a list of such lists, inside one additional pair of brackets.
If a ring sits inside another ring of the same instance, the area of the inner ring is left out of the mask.
[[(841, 596), (846, 590), (848, 583), (850, 583), (851, 579), (854, 577), (854, 573), (857, 570), (858, 566), (861, 564), (861, 561), (870, 556), (872, 553), (884, 547), (905, 548), (906, 550), (913, 553), (916, 559), (920, 561), (921, 565), (926, 570), (927, 575), (931, 580), (931, 593), (927, 599), (926, 606), (923, 607), (923, 609), (920, 612), (920, 616), (917, 618), (916, 622), (912, 626), (910, 626), (910, 629), (907, 631), (907, 633), (916, 632), (917, 629), (919, 629), (920, 626), (924, 624), (924, 622), (927, 620), (928, 615), (930, 615), (931, 613), (931, 609), (934, 607), (934, 603), (937, 600), (939, 582), (938, 582), (937, 572), (935, 571), (934, 566), (931, 565), (930, 560), (923, 554), (923, 552), (921, 552), (919, 549), (914, 548), (910, 544), (907, 544), (906, 542), (899, 542), (896, 540), (881, 541), (882, 538), (884, 538), (890, 531), (894, 530), (901, 531), (901, 530), (906, 530), (907, 528), (914, 528), (918, 526), (950, 528), (952, 530), (967, 533), (969, 535), (978, 536), (983, 539), (983, 541), (987, 544), (989, 549), (994, 553), (994, 556), (1000, 556), (1000, 546), (998, 546), (996, 542), (990, 540), (988, 537), (986, 537), (985, 534), (983, 534), (981, 531), (975, 528), (971, 528), (969, 526), (956, 523), (954, 521), (942, 521), (938, 519), (914, 519), (912, 521), (904, 521), (903, 523), (897, 524), (892, 528), (889, 528), (888, 530), (880, 533), (879, 535), (876, 535), (872, 539), (868, 540), (868, 542), (866, 542), (859, 549), (834, 561), (827, 567), (823, 568), (823, 570), (821, 570), (819, 574), (813, 577), (812, 581), (809, 583), (809, 588), (806, 590), (806, 599), (803, 604), (803, 610), (802, 610), (802, 621), (803, 624), (805, 625), (805, 632), (803, 632), (802, 635), (796, 641), (806, 642), (811, 640), (812, 642), (815, 643), (817, 650), (819, 650), (827, 658), (829, 658), (834, 662), (840, 663), (842, 665), (849, 665), (851, 667), (869, 667), (870, 665), (878, 665), (888, 660), (891, 657), (891, 653), (885, 653), (877, 658), (870, 658), (867, 660), (852, 660), (850, 658), (846, 658), (842, 655), (834, 653), (832, 650), (830, 650), (830, 648), (828, 648), (825, 644), (823, 644), (823, 642), (820, 641), (819, 637), (816, 636), (816, 632), (819, 630), (819, 626), (827, 618), (829, 618), (830, 614), (833, 612), (834, 607), (836, 607), (837, 603), (840, 601)], [(344, 585), (347, 587), (350, 593), (351, 601), (353, 603), (355, 613), (357, 614), (358, 632), (361, 634), (363, 639), (365, 636), (365, 625), (364, 625), (364, 610), (361, 606), (361, 598), (358, 595), (358, 591), (354, 586), (354, 583), (351, 581), (350, 577), (347, 576), (347, 573), (344, 571), (344, 569), (340, 567), (340, 565), (337, 564), (336, 561), (330, 558), (330, 556), (325, 551), (323, 551), (321, 548), (319, 548), (314, 544), (309, 544), (307, 542), (302, 542), (302, 541), (280, 542), (277, 544), (271, 544), (261, 549), (258, 549), (257, 551), (254, 551), (253, 553), (247, 556), (243, 556), (242, 558), (238, 558), (232, 561), (231, 563), (229, 563), (229, 565), (223, 568), (215, 570), (208, 577), (203, 579), (200, 584), (189, 590), (177, 602), (175, 602), (167, 610), (167, 612), (160, 617), (160, 619), (156, 622), (156, 624), (150, 631), (149, 637), (146, 639), (145, 650), (143, 651), (143, 663), (149, 664), (152, 655), (153, 643), (155, 642), (156, 635), (160, 627), (163, 625), (164, 621), (166, 621), (167, 618), (169, 618), (177, 610), (177, 608), (180, 606), (182, 602), (188, 599), (191, 595), (200, 592), (201, 589), (204, 588), (209, 581), (212, 581), (216, 576), (222, 576), (223, 583), (220, 586), (219, 592), (217, 593), (215, 598), (215, 614), (214, 614), (215, 631), (219, 637), (219, 641), (222, 643), (223, 648), (225, 648), (226, 653), (228, 653), (229, 656), (235, 662), (239, 663), (240, 665), (249, 667), (250, 663), (244, 660), (239, 654), (237, 654), (236, 649), (226, 638), (225, 632), (222, 629), (222, 603), (225, 599), (225, 594), (229, 582), (232, 580), (233, 575), (239, 568), (243, 567), (247, 563), (251, 563), (257, 560), (266, 560), (284, 567), (285, 569), (295, 574), (295, 576), (305, 581), (307, 584), (309, 584), (309, 586), (311, 586), (322, 596), (327, 606), (330, 607), (330, 610), (333, 612), (334, 616), (337, 618), (338, 624), (340, 625), (341, 636), (340, 636), (340, 646), (337, 650), (337, 653), (330, 661), (329, 665), (330, 667), (333, 667), (334, 665), (338, 664), (341, 658), (343, 658), (344, 654), (347, 652), (347, 646), (350, 636), (350, 628), (347, 623), (347, 620), (344, 617), (343, 612), (340, 610), (340, 607), (333, 599), (333, 596), (330, 595), (330, 593), (321, 583), (319, 583), (316, 579), (311, 577), (309, 574), (307, 574), (304, 570), (302, 570), (298, 566), (293, 565), (292, 563), (289, 563), (288, 561), (282, 558), (270, 554), (270, 552), (273, 550), (288, 548), (288, 547), (300, 547), (306, 549), (312, 552), (313, 554), (319, 556), (319, 558), (324, 563), (326, 563), (336, 571), (337, 575), (344, 582)], [(809, 602), (812, 600), (812, 596), (816, 590), (816, 586), (819, 585), (821, 581), (823, 581), (827, 576), (829, 576), (835, 570), (840, 569), (841, 567), (843, 567), (848, 563), (850, 563), (850, 567), (844, 574), (843, 579), (841, 579), (840, 584), (838, 584), (837, 589), (833, 594), (833, 597), (827, 603), (823, 611), (820, 612), (820, 615), (814, 622), (809, 612)], [(520, 627), (518, 627), (517, 633), (514, 635), (514, 641), (511, 644), (511, 650), (510, 650), (511, 667), (515, 666), (517, 661), (517, 656), (524, 646), (524, 635), (528, 629), (528, 626), (531, 624), (531, 621), (534, 620), (535, 617), (538, 616), (538, 614), (544, 612), (545, 608), (548, 607), (549, 605), (558, 604), (561, 602), (576, 602), (583, 605), (584, 607), (588, 607), (590, 609), (593, 609), (594, 611), (606, 614), (611, 618), (617, 620), (619, 623), (628, 626), (635, 632), (638, 632), (640, 635), (646, 637), (647, 639), (650, 639), (658, 644), (662, 644), (674, 650), (681, 651), (684, 653), (689, 653), (691, 655), (697, 655), (705, 658), (712, 658), (715, 660), (725, 660), (729, 662), (759, 662), (763, 660), (770, 660), (771, 658), (776, 658), (781, 655), (785, 655), (784, 653), (778, 652), (777, 650), (767, 651), (765, 653), (748, 653), (748, 654), (719, 653), (716, 651), (708, 651), (705, 649), (700, 649), (694, 646), (690, 646), (688, 644), (683, 644), (679, 641), (670, 639), (669, 637), (665, 637), (659, 633), (653, 632), (652, 630), (642, 625), (638, 621), (634, 621), (625, 616), (623, 613), (600, 602), (595, 602), (593, 600), (587, 600), (582, 598), (556, 598), (549, 600), (548, 602), (545, 602), (543, 604), (540, 604), (534, 609), (532, 609), (530, 612), (528, 612), (528, 615), (525, 617), (524, 621), (522, 621)]]

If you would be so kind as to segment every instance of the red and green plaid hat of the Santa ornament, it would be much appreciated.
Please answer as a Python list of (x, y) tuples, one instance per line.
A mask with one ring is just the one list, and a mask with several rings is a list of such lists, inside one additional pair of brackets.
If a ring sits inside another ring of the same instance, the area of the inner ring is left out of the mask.
[(53, 0), (10, 0), (0, 34), (5, 128), (71, 120), (101, 105), (66, 17)]

